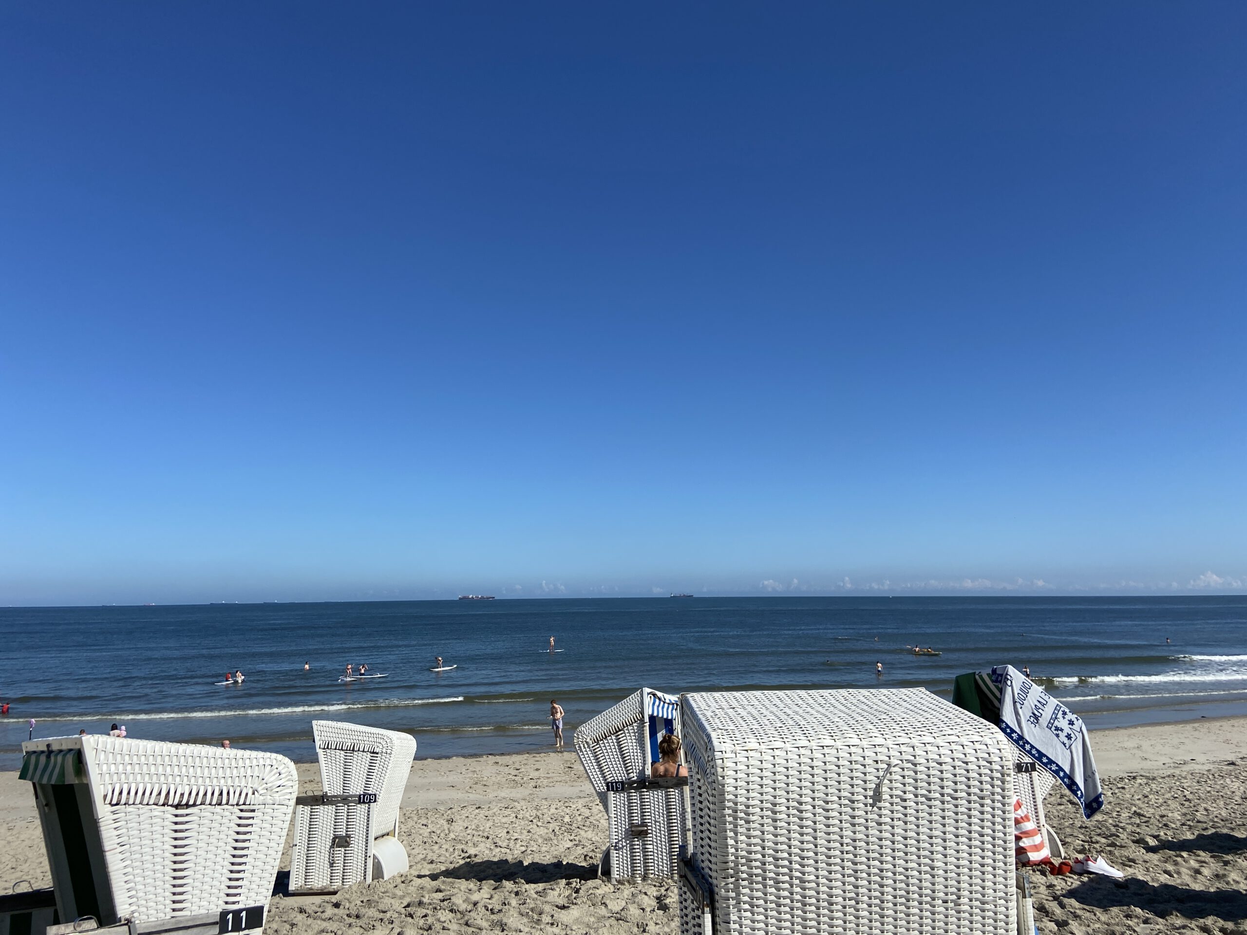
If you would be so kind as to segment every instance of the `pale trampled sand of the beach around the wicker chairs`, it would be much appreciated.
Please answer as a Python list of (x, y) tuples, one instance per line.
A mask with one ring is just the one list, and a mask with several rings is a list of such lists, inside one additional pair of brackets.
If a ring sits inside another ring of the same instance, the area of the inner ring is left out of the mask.
[[(1084, 822), (1060, 789), (1070, 854), (1126, 874), (1033, 873), (1041, 933), (1247, 934), (1247, 719), (1099, 731), (1107, 805)], [(301, 764), (306, 790), (313, 764)], [(675, 933), (673, 884), (596, 879), (605, 814), (574, 753), (416, 760), (400, 824), (409, 873), (332, 898), (274, 898), (266, 931)], [(30, 787), (0, 774), (0, 885), (50, 884)]]

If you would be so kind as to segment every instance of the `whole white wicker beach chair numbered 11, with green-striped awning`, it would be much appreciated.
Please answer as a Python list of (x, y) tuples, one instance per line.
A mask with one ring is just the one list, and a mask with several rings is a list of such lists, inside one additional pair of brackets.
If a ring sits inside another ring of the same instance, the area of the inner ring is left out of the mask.
[(62, 923), (263, 926), (298, 793), (286, 757), (95, 734), (22, 753)]

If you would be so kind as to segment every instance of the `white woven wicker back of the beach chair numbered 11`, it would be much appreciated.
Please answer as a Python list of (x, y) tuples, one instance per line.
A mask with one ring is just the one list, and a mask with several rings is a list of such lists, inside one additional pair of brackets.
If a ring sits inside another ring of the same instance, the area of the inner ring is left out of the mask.
[(298, 793), (291, 760), (94, 734), (55, 744), (81, 744), (118, 918), (268, 905)]

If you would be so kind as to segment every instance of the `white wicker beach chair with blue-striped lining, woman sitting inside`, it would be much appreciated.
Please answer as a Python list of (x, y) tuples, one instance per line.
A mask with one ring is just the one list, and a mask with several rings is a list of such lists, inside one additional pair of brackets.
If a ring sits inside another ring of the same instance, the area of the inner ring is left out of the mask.
[(680, 736), (680, 699), (642, 688), (576, 729), (576, 753), (606, 809), (611, 880), (675, 876), (687, 779), (650, 777), (662, 734)]

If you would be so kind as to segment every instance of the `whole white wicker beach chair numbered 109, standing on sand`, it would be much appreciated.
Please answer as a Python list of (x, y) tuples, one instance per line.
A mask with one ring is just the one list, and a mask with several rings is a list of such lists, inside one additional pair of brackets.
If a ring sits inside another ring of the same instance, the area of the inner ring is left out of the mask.
[(323, 795), (294, 810), (291, 893), (335, 893), (408, 869), (398, 839), (399, 803), (415, 738), (398, 731), (313, 721)]

